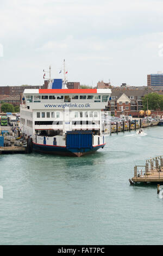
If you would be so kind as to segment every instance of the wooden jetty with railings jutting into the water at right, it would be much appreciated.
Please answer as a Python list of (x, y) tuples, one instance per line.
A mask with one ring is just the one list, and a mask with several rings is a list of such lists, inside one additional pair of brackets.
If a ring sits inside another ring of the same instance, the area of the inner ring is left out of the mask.
[(129, 182), (131, 185), (137, 182), (163, 182), (163, 156), (146, 160), (145, 166), (135, 166), (134, 177)]

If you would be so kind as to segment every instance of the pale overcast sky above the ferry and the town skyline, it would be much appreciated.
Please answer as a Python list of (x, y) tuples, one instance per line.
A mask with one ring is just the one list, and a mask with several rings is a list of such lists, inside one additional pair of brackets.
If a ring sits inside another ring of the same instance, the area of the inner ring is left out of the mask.
[[(0, 86), (67, 80), (146, 86), (163, 71), (163, 1), (1, 0)], [(46, 73), (48, 78), (48, 73)]]

